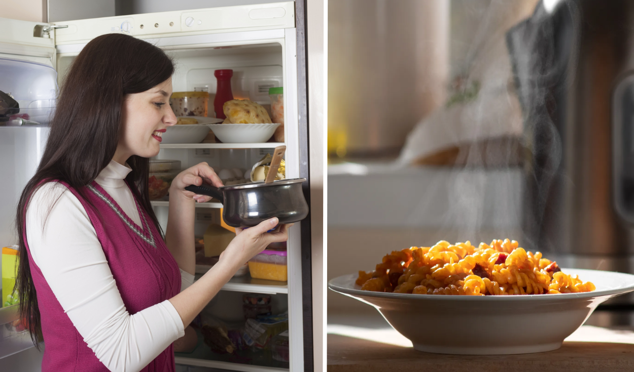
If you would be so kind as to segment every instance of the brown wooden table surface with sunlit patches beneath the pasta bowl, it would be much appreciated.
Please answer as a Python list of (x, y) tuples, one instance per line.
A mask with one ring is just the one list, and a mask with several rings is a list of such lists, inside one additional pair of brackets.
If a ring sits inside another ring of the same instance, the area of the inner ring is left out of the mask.
[(506, 356), (420, 352), (377, 318), (356, 325), (329, 323), (327, 342), (328, 372), (634, 371), (634, 328), (581, 326), (559, 350)]

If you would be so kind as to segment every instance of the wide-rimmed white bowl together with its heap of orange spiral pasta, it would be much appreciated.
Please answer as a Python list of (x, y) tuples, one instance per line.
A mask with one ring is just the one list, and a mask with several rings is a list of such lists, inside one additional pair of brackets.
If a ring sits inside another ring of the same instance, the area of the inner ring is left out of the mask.
[(393, 251), (328, 288), (374, 306), (416, 350), (528, 354), (559, 349), (598, 304), (634, 291), (634, 275), (559, 268), (508, 239), (441, 241)]

